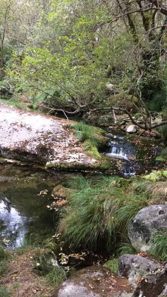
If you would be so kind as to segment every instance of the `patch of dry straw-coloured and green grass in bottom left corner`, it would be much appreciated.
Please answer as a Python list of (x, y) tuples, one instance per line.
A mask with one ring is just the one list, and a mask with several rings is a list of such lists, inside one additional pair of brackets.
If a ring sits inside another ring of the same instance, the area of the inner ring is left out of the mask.
[(45, 245), (32, 246), (25, 241), (13, 251), (0, 245), (0, 296), (49, 296), (68, 274)]

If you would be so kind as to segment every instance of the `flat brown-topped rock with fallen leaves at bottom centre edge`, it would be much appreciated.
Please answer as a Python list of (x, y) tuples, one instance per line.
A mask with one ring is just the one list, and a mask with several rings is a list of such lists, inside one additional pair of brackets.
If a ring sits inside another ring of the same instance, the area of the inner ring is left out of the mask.
[(131, 297), (131, 286), (127, 283), (126, 278), (101, 266), (92, 266), (72, 274), (50, 297)]

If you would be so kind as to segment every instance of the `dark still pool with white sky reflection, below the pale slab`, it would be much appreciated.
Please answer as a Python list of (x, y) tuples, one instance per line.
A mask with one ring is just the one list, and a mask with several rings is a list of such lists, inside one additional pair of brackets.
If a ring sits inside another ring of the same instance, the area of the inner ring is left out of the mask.
[[(54, 235), (53, 211), (47, 208), (59, 176), (16, 165), (0, 165), (0, 239), (10, 248), (30, 235), (43, 242)], [(42, 191), (42, 192), (41, 192)]]

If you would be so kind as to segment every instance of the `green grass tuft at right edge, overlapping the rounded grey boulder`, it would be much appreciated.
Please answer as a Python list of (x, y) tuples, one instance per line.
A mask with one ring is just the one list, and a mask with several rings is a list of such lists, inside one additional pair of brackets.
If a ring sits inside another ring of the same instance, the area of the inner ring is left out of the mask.
[(156, 260), (167, 261), (167, 229), (156, 232), (151, 239), (149, 254)]

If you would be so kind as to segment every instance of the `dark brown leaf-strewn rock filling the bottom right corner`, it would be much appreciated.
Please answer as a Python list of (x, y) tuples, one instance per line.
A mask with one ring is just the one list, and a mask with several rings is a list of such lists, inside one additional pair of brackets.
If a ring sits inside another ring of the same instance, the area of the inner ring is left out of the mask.
[(165, 271), (147, 276), (137, 286), (132, 297), (166, 297), (167, 296), (167, 265)]

